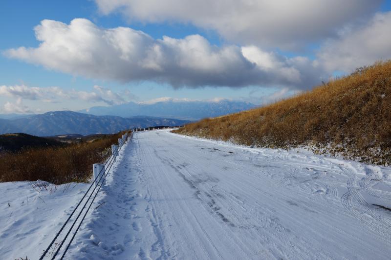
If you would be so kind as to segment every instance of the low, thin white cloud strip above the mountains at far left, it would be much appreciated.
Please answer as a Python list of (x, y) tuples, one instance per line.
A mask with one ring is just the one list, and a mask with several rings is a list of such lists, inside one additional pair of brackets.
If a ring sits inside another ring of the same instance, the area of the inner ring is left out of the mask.
[[(17, 100), (40, 100), (43, 102), (60, 102), (62, 100), (83, 100), (87, 102), (104, 102), (109, 105), (125, 103), (120, 94), (107, 88), (95, 85), (94, 91), (64, 90), (60, 87), (28, 87), (26, 85), (0, 86), (0, 96)], [(8, 107), (11, 107), (11, 103)]]

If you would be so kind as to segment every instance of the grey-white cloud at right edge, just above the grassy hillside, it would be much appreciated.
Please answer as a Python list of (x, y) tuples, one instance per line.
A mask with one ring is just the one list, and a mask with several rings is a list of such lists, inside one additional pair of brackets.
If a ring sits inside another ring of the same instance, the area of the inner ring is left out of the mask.
[(317, 62), (328, 71), (347, 73), (380, 59), (391, 59), (391, 12), (378, 13), (362, 27), (342, 32), (317, 54)]

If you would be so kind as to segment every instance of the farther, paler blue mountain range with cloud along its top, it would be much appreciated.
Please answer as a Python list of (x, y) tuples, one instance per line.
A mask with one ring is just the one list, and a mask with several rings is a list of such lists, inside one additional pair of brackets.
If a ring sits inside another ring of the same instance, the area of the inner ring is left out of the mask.
[(176, 101), (167, 100), (155, 103), (128, 102), (113, 106), (95, 106), (78, 112), (103, 116), (153, 116), (161, 118), (174, 118), (185, 120), (199, 120), (209, 117), (218, 117), (226, 114), (237, 113), (256, 107), (250, 102), (244, 101)]

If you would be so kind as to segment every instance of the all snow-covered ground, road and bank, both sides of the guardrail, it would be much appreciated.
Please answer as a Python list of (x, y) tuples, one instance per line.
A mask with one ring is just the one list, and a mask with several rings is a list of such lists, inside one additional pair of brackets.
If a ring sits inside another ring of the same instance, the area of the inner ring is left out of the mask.
[[(118, 159), (66, 259), (390, 259), (390, 167), (164, 130)], [(85, 185), (0, 183), (0, 258), (36, 259)]]

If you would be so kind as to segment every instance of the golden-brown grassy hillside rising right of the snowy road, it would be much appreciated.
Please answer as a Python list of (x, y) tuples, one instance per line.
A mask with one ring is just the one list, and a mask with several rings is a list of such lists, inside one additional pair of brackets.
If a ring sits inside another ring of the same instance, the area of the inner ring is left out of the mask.
[(296, 97), (188, 124), (177, 133), (391, 164), (391, 61), (357, 69)]

